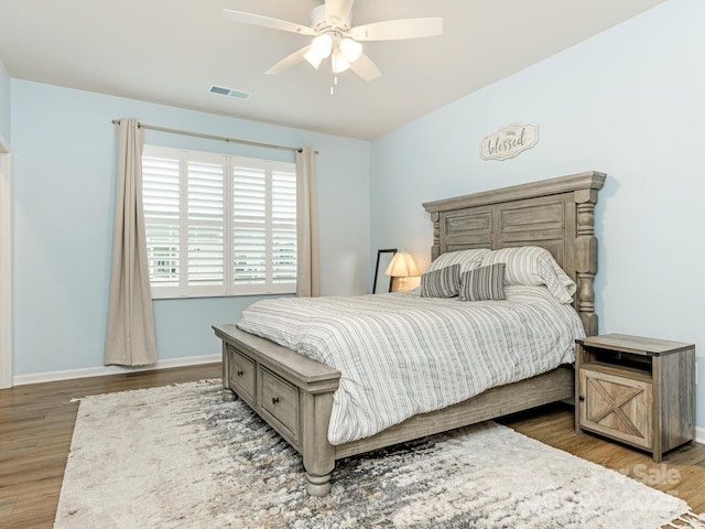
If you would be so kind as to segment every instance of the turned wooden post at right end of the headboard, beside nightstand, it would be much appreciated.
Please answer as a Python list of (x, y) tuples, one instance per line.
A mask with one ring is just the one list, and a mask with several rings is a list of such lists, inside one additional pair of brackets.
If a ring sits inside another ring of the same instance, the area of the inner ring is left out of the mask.
[[(597, 176), (597, 174), (596, 174)], [(598, 321), (595, 313), (594, 280), (597, 273), (597, 238), (595, 237), (595, 204), (597, 192), (605, 181), (596, 179), (596, 188), (578, 190), (575, 192), (576, 204), (576, 260), (575, 271), (577, 293), (575, 309), (581, 315), (585, 333), (588, 336), (598, 334)]]

